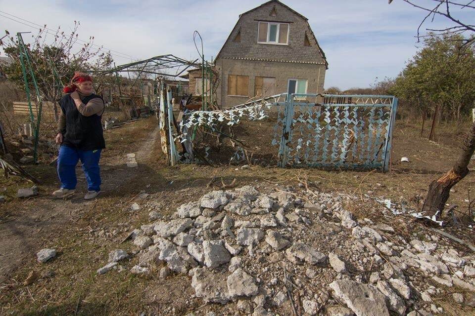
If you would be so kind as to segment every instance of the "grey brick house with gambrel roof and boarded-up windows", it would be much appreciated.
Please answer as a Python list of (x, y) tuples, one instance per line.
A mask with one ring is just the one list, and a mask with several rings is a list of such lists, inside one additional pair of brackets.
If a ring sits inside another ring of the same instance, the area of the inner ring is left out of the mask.
[[(217, 103), (229, 108), (287, 91), (322, 93), (327, 69), (308, 19), (279, 0), (267, 1), (239, 15), (216, 55)], [(191, 70), (189, 79), (190, 92), (200, 95), (201, 69)]]

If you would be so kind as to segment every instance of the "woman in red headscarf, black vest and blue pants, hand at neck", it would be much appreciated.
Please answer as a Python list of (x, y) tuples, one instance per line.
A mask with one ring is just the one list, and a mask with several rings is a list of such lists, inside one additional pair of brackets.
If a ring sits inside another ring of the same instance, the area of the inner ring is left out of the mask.
[(56, 144), (58, 154), (58, 176), (61, 188), (54, 191), (54, 198), (70, 196), (76, 189), (76, 164), (81, 160), (88, 182), (85, 199), (97, 197), (100, 193), (100, 152), (105, 148), (101, 117), (104, 101), (93, 93), (91, 76), (75, 72), (71, 83), (64, 87), (67, 94), (59, 101), (61, 113), (58, 121)]

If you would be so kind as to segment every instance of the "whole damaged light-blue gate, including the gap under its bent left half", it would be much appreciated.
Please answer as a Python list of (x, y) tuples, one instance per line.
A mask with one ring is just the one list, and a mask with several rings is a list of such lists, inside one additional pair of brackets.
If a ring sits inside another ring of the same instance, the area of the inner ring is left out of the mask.
[[(393, 96), (284, 93), (223, 111), (186, 113), (179, 131), (170, 129), (169, 139), (181, 143), (176, 148), (182, 152), (174, 155), (182, 163), (226, 158), (233, 163), (385, 171), (396, 108)], [(207, 143), (207, 131), (217, 135), (218, 143), (227, 138), (232, 146)]]

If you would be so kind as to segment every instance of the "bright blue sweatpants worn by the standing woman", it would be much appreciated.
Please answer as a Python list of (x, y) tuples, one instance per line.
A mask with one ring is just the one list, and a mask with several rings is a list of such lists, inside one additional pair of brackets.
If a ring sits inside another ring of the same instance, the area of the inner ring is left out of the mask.
[(99, 159), (98, 150), (77, 150), (68, 146), (61, 146), (58, 155), (58, 176), (61, 188), (76, 189), (76, 165), (79, 159), (83, 164), (84, 174), (88, 181), (89, 191), (100, 190)]

